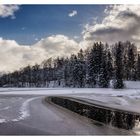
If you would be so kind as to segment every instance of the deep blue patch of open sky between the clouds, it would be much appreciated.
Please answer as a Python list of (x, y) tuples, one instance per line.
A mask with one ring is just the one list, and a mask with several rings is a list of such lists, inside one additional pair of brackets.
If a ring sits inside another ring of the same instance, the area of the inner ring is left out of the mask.
[[(103, 5), (21, 5), (14, 16), (0, 18), (0, 36), (31, 45), (39, 39), (63, 34), (80, 37), (84, 24), (102, 17)], [(12, 19), (11, 19), (12, 18)]]

